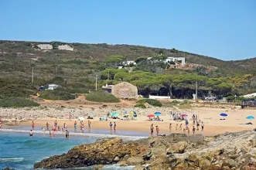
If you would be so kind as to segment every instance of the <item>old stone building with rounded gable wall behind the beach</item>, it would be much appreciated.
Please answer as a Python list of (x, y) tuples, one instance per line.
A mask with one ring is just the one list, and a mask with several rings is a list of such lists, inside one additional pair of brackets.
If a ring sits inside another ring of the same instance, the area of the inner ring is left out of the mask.
[(106, 85), (102, 87), (103, 90), (112, 93), (114, 97), (121, 99), (138, 99), (138, 88), (131, 83), (122, 82), (114, 86)]

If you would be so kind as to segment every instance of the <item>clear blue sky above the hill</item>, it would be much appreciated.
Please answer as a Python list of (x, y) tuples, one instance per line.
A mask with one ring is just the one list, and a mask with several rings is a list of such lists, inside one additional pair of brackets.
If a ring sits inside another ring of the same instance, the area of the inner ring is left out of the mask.
[(1, 0), (0, 39), (132, 44), (256, 57), (255, 0)]

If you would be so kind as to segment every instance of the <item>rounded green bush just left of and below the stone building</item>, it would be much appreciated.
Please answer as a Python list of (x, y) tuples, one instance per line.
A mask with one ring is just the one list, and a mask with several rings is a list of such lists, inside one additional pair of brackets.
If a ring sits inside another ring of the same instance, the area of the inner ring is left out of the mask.
[(96, 101), (96, 102), (108, 102), (108, 103), (118, 103), (119, 99), (117, 97), (114, 97), (111, 93), (104, 93), (102, 91), (94, 91), (91, 93), (88, 93), (86, 95), (86, 99), (89, 101)]

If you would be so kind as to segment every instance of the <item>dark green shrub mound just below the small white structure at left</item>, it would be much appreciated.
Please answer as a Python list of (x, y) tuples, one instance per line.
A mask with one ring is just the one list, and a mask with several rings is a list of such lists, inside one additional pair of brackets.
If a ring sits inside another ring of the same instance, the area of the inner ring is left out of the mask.
[(72, 100), (75, 96), (66, 90), (56, 89), (56, 90), (43, 90), (39, 92), (40, 97), (46, 100)]

